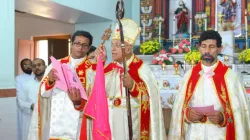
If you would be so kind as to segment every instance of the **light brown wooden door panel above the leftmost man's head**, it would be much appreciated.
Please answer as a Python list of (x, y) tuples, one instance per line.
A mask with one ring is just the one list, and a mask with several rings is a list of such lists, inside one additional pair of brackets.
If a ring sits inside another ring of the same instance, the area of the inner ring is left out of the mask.
[(18, 39), (18, 47), (17, 47), (17, 74), (22, 73), (22, 69), (20, 66), (20, 62), (24, 58), (31, 59), (31, 61), (34, 59), (34, 41), (33, 40), (22, 40)]

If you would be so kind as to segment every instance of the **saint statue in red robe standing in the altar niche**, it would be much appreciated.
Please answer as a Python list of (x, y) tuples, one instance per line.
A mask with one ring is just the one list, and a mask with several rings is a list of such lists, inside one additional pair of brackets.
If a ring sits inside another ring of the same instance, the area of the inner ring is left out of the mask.
[(177, 34), (187, 33), (189, 20), (188, 9), (182, 0), (179, 2), (179, 7), (175, 10), (174, 14), (177, 18)]

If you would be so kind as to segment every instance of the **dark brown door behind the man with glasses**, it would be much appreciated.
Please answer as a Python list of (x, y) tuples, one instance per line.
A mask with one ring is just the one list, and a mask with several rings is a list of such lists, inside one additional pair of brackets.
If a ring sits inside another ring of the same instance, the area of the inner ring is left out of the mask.
[[(68, 56), (68, 47), (68, 39), (48, 39), (48, 56), (54, 56), (56, 59)], [(48, 63), (51, 63), (49, 58)]]

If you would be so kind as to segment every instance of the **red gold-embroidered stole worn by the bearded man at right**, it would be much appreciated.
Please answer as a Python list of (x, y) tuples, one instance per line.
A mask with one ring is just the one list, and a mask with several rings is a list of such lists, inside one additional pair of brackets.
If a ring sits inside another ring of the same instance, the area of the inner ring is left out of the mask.
[[(182, 134), (183, 134), (183, 124), (184, 124), (184, 110), (188, 107), (194, 90), (196, 88), (196, 84), (199, 81), (200, 74), (199, 72), (202, 70), (202, 63), (198, 63), (192, 70), (191, 76), (188, 80), (186, 87), (185, 100), (182, 108)], [(234, 116), (232, 112), (231, 103), (228, 96), (227, 85), (225, 82), (225, 74), (228, 70), (228, 67), (222, 64), (220, 61), (218, 62), (217, 67), (214, 70), (215, 75), (213, 75), (213, 81), (216, 88), (216, 93), (219, 97), (220, 103), (224, 108), (225, 121), (226, 121), (226, 140), (234, 140), (235, 139), (235, 126), (234, 126)]]

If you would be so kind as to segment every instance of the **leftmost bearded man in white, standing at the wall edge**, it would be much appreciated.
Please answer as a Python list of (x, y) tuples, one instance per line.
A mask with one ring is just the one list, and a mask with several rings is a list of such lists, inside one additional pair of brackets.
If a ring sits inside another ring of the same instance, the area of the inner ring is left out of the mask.
[(25, 118), (25, 113), (21, 110), (18, 100), (23, 99), (25, 95), (21, 94), (21, 90), (26, 81), (34, 78), (31, 69), (32, 61), (30, 59), (23, 59), (20, 63), (22, 74), (16, 76), (16, 99), (17, 99), (17, 140), (23, 140), (22, 120)]

